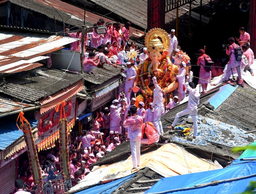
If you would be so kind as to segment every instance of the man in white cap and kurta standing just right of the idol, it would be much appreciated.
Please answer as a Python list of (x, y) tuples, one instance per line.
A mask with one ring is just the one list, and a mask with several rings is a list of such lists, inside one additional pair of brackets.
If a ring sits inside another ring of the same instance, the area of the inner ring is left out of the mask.
[(185, 87), (185, 74), (186, 74), (186, 63), (184, 61), (181, 62), (180, 64), (180, 69), (178, 74), (176, 75), (178, 82), (179, 82), (179, 87), (178, 87), (178, 92), (179, 92), (179, 99), (178, 102), (181, 102), (183, 98), (185, 98), (186, 95), (186, 87)]

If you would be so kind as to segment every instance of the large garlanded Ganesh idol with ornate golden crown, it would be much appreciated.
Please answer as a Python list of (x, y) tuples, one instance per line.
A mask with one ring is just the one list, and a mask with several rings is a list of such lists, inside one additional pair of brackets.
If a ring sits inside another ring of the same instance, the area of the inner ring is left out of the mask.
[[(157, 82), (165, 94), (169, 93), (172, 96), (172, 92), (178, 88), (179, 83), (176, 75), (179, 66), (174, 65), (170, 57), (167, 57), (169, 44), (170, 37), (165, 30), (154, 28), (146, 34), (145, 45), (149, 57), (137, 68), (137, 75), (140, 76), (136, 78), (135, 85), (139, 87), (141, 94), (136, 97), (136, 103), (143, 101), (145, 107), (147, 107), (150, 102), (153, 102), (153, 91), (148, 87), (152, 76), (157, 78)], [(175, 60), (184, 61), (188, 64), (190, 58), (186, 53), (178, 51), (175, 54)], [(188, 71), (187, 67), (186, 71)]]

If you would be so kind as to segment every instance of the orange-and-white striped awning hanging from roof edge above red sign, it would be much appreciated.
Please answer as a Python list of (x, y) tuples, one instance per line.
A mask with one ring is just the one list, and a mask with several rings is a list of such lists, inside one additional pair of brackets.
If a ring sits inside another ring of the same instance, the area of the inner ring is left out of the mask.
[(47, 112), (48, 110), (51, 110), (52, 108), (56, 107), (56, 104), (61, 103), (62, 101), (66, 101), (70, 97), (74, 96), (76, 93), (83, 90), (83, 83), (83, 79), (79, 80), (71, 86), (68, 86), (67, 88), (39, 101), (42, 105), (40, 110), (41, 114)]

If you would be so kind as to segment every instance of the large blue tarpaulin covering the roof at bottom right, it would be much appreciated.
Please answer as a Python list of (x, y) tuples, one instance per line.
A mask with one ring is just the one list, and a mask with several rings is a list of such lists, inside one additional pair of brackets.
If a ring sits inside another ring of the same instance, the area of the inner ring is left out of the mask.
[[(244, 176), (251, 175), (245, 178)], [(244, 177), (244, 178), (243, 178)], [(232, 181), (231, 178), (240, 180)], [(223, 183), (217, 182), (222, 180)], [(227, 168), (197, 172), (186, 175), (178, 175), (160, 179), (146, 193), (178, 193), (178, 194), (232, 194), (244, 192), (250, 181), (256, 180), (256, 161), (230, 165)], [(199, 184), (211, 183), (214, 186), (198, 186)], [(183, 188), (183, 190), (181, 189)], [(189, 190), (184, 190), (190, 188)], [(173, 191), (175, 189), (175, 191)], [(171, 191), (172, 190), (172, 191)]]

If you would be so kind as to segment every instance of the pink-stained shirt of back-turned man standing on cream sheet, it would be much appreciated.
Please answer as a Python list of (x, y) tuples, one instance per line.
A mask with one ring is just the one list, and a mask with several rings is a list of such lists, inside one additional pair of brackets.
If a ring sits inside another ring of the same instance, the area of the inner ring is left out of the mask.
[(143, 126), (143, 119), (141, 116), (131, 116), (129, 119), (124, 121), (124, 127), (128, 128), (128, 135), (132, 141), (140, 141), (141, 140), (141, 131)]

